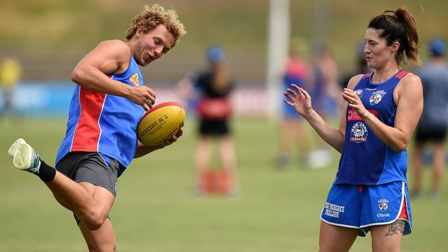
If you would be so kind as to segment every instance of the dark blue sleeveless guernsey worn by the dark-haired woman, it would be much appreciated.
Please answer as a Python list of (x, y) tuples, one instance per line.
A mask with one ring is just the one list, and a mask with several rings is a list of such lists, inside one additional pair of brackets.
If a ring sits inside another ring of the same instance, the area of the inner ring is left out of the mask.
[[(400, 70), (383, 83), (371, 83), (374, 73), (365, 74), (354, 92), (364, 107), (381, 122), (394, 127), (397, 106), (394, 90), (408, 72)], [(347, 107), (345, 143), (339, 160), (335, 184), (383, 185), (407, 183), (407, 151), (396, 152), (383, 143), (360, 116)]]

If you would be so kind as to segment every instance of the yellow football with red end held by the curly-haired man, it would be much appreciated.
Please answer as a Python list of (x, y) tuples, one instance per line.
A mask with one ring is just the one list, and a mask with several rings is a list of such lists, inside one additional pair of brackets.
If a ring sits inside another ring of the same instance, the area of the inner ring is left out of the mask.
[(148, 146), (161, 145), (183, 127), (185, 109), (176, 102), (154, 105), (140, 119), (137, 138)]

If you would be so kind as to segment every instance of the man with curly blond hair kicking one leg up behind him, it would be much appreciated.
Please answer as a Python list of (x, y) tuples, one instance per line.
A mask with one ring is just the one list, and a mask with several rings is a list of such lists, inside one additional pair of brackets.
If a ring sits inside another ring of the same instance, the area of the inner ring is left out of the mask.
[(74, 68), (72, 81), (77, 87), (56, 169), (22, 138), (8, 150), (17, 169), (39, 176), (54, 198), (73, 211), (89, 251), (115, 251), (108, 215), (117, 178), (132, 159), (171, 145), (183, 134), (181, 128), (164, 144), (150, 147), (139, 143), (135, 132), (156, 98), (143, 85), (139, 65), (159, 59), (185, 33), (174, 10), (145, 6), (126, 32), (126, 41), (99, 43)]

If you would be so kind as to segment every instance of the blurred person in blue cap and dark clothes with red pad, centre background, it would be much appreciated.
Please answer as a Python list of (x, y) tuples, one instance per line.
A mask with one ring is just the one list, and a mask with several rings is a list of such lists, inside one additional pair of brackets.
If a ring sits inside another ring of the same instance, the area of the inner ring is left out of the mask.
[[(183, 95), (190, 94), (198, 101), (196, 114), (198, 116), (199, 143), (196, 150), (196, 191), (199, 194), (214, 192), (236, 192), (236, 153), (231, 137), (230, 117), (232, 113), (232, 91), (234, 81), (225, 65), (226, 53), (220, 45), (213, 45), (207, 50), (208, 69), (197, 74), (187, 74), (179, 81)], [(192, 104), (195, 104), (194, 102)], [(218, 178), (210, 166), (214, 140), (218, 141), (219, 156), (222, 162)], [(219, 188), (210, 188), (219, 180)], [(216, 181), (215, 181), (216, 182)]]

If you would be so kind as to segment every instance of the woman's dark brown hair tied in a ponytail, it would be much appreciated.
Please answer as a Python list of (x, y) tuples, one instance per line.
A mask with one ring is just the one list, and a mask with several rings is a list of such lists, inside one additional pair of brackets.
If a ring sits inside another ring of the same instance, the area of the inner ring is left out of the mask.
[(380, 37), (386, 39), (387, 45), (400, 43), (395, 60), (398, 64), (406, 59), (420, 64), (418, 58), (418, 33), (416, 20), (405, 7), (397, 10), (385, 10), (371, 19), (368, 28), (383, 30)]

